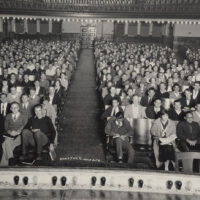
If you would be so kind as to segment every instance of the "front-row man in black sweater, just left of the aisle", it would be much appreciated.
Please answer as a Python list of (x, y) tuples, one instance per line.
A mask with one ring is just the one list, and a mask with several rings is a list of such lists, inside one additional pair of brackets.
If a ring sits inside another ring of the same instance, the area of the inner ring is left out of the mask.
[(29, 145), (36, 148), (36, 160), (42, 160), (41, 153), (43, 146), (50, 143), (50, 151), (54, 150), (55, 128), (51, 119), (43, 116), (42, 106), (36, 105), (34, 108), (35, 116), (32, 117), (25, 129), (22, 131), (22, 156), (20, 160), (28, 159)]

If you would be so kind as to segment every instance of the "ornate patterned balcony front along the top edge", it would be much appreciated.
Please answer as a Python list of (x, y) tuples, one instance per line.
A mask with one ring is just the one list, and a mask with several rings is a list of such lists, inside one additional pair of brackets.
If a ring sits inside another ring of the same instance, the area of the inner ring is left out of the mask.
[(0, 0), (0, 9), (93, 13), (200, 13), (200, 0)]

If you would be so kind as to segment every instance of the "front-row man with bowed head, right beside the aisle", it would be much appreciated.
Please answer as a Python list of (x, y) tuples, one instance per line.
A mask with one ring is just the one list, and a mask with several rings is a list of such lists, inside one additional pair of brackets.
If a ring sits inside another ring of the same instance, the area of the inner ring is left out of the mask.
[(116, 145), (118, 162), (123, 162), (123, 149), (128, 153), (128, 163), (133, 164), (135, 152), (129, 143), (129, 136), (133, 135), (133, 130), (122, 112), (118, 112), (115, 117), (108, 120), (105, 133), (112, 136)]

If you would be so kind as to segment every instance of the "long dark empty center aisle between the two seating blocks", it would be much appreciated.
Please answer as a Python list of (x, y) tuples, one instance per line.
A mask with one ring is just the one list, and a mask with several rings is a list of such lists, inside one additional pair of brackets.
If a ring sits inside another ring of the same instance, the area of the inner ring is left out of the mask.
[(95, 91), (95, 67), (92, 49), (80, 53), (77, 69), (69, 87), (58, 136), (58, 159), (95, 159), (105, 161), (100, 128), (100, 102)]

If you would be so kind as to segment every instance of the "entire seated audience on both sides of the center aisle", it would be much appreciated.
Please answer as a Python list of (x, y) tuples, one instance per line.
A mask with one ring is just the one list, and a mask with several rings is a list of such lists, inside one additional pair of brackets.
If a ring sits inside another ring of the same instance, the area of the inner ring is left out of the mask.
[[(1, 166), (42, 160), (58, 145), (58, 115), (80, 50), (78, 41), (13, 40), (0, 44)], [(134, 163), (135, 145), (153, 148), (155, 166), (175, 167), (176, 152), (200, 151), (200, 50), (178, 61), (155, 44), (94, 44), (101, 119), (119, 163)], [(138, 126), (140, 124), (140, 126)], [(141, 125), (142, 124), (142, 125)], [(142, 129), (147, 129), (145, 132)], [(133, 143), (133, 144), (132, 144)]]

